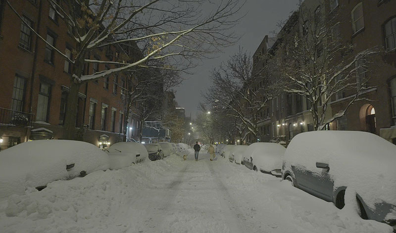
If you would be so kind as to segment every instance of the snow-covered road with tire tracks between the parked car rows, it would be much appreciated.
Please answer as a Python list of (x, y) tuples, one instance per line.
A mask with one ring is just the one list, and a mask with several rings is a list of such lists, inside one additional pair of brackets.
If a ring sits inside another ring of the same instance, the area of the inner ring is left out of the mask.
[(390, 233), (288, 182), (172, 155), (0, 199), (1, 233)]

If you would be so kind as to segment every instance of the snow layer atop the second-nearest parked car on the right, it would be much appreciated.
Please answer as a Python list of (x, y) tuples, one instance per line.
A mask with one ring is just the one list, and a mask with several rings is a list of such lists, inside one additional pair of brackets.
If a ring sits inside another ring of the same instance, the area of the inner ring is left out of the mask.
[(244, 157), (247, 159), (252, 157), (256, 167), (270, 172), (281, 169), (285, 151), (286, 148), (278, 143), (254, 142), (247, 147)]

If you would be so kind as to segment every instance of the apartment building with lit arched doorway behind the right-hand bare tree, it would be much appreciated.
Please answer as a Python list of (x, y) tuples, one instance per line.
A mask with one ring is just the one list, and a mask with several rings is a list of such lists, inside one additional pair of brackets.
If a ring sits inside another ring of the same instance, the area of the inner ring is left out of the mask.
[[(339, 59), (351, 60), (365, 49), (385, 50), (375, 57), (377, 62), (369, 62), (364, 68), (356, 68), (354, 71), (356, 83), (359, 79), (369, 80), (364, 84), (367, 89), (361, 95), (365, 99), (355, 101), (343, 117), (326, 125), (325, 129), (371, 132), (396, 143), (396, 1), (305, 0), (303, 4), (321, 17), (337, 19), (335, 25), (328, 26), (334, 28), (334, 33), (342, 43), (354, 45), (350, 56), (340, 56)], [(304, 28), (297, 23), (298, 17), (297, 13), (292, 14), (282, 30), (291, 28), (290, 36), (293, 33), (304, 33)], [(269, 48), (261, 43), (253, 55), (254, 66), (265, 62), (257, 59), (256, 53), (275, 53), (277, 43), (281, 41), (282, 38), (278, 38)], [(327, 118), (345, 109), (353, 96), (353, 91), (333, 96), (327, 106)], [(260, 127), (261, 141), (290, 141), (299, 133), (314, 130), (309, 112), (310, 102), (305, 97), (295, 93), (280, 93), (270, 101), (268, 107), (269, 112), (264, 113), (268, 118)]]

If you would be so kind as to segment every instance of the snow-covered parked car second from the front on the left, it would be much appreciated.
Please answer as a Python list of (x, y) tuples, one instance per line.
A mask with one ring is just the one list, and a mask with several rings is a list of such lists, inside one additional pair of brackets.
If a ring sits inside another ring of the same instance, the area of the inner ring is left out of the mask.
[(107, 148), (110, 156), (110, 168), (118, 169), (131, 166), (146, 160), (148, 152), (146, 147), (139, 142), (117, 142)]

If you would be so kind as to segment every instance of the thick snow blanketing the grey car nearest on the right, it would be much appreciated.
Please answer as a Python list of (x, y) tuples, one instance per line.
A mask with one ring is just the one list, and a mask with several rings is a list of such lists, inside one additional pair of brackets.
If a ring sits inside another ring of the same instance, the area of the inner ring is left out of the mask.
[[(294, 165), (296, 169), (307, 169), (320, 176), (322, 169), (316, 168), (316, 162), (329, 165), (334, 190), (346, 186), (347, 192), (360, 195), (371, 210), (384, 202), (394, 205), (393, 213), (386, 219), (396, 219), (396, 145), (365, 132), (298, 134), (286, 150), (284, 170), (291, 170)], [(346, 195), (346, 204), (348, 200), (355, 198)]]

